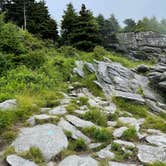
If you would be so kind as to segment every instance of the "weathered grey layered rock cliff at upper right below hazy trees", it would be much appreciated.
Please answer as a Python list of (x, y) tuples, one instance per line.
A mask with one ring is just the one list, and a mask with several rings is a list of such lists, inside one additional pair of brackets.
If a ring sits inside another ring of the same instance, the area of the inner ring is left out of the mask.
[(155, 32), (120, 33), (117, 49), (130, 53), (136, 59), (159, 57), (166, 48), (166, 35)]

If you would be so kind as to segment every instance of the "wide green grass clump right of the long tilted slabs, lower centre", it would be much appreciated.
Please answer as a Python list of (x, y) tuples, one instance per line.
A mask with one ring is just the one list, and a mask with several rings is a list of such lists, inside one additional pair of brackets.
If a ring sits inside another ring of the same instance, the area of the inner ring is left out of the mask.
[(92, 137), (95, 141), (106, 142), (112, 140), (112, 133), (106, 128), (89, 127), (83, 130), (85, 134)]

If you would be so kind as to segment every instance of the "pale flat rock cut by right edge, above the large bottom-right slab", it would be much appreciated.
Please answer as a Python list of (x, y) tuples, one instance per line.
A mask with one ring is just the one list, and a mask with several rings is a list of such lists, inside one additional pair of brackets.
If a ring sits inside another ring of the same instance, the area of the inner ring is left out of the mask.
[(166, 147), (166, 134), (151, 135), (151, 136), (146, 137), (146, 140), (151, 144)]

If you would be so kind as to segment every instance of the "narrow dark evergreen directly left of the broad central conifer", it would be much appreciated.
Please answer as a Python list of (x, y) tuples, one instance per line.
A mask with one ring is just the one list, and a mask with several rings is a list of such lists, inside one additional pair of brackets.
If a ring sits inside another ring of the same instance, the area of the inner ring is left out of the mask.
[(63, 45), (71, 44), (71, 32), (77, 22), (78, 15), (72, 3), (67, 5), (67, 10), (64, 11), (63, 20), (61, 22), (61, 42)]

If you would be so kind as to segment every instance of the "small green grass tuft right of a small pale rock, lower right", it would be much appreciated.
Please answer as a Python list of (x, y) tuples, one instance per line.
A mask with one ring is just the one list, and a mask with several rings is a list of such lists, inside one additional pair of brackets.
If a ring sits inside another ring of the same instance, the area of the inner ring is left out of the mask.
[(122, 138), (127, 141), (136, 141), (138, 137), (135, 127), (130, 127), (129, 129), (125, 130), (122, 134)]

